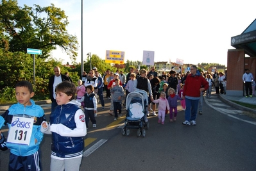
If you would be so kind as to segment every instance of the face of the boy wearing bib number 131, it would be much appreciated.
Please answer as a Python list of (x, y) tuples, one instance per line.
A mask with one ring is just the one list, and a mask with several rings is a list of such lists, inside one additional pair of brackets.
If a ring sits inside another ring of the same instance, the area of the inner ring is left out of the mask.
[(26, 107), (27, 105), (31, 105), (30, 98), (34, 96), (34, 92), (30, 93), (28, 87), (17, 86), (15, 88), (15, 95), (17, 102), (23, 104)]

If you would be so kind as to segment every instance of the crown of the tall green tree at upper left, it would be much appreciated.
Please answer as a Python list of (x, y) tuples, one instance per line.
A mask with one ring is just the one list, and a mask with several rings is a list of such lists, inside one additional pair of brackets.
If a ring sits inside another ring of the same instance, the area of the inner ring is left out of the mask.
[(41, 49), (47, 58), (56, 47), (76, 60), (78, 41), (67, 32), (67, 15), (54, 4), (35, 8), (18, 6), (17, 0), (2, 0), (0, 4), (1, 48), (12, 52), (26, 52), (27, 48)]

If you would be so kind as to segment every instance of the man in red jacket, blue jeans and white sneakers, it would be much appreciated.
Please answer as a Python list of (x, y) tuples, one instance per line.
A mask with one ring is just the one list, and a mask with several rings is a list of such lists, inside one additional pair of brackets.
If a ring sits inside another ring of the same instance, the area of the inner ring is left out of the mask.
[(186, 102), (185, 121), (183, 125), (196, 126), (196, 114), (200, 93), (209, 88), (209, 83), (201, 76), (196, 65), (191, 66), (191, 74), (187, 76), (183, 88), (183, 98)]

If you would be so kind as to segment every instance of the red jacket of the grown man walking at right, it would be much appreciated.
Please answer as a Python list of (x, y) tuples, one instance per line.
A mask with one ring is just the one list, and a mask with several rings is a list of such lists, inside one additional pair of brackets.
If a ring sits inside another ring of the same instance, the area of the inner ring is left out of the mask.
[(192, 74), (187, 76), (183, 88), (183, 96), (200, 97), (200, 88), (205, 88), (205, 90), (209, 88), (209, 83), (198, 73), (199, 72), (196, 72), (195, 76), (192, 76)]

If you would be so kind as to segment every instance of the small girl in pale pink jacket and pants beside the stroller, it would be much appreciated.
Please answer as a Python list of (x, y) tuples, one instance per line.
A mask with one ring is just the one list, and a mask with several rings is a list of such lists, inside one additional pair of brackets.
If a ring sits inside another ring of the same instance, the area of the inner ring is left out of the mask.
[(168, 101), (166, 99), (166, 93), (160, 92), (159, 99), (152, 102), (158, 103), (158, 124), (162, 123), (162, 125), (164, 125), (164, 118), (166, 117), (166, 108), (167, 110), (170, 109)]

